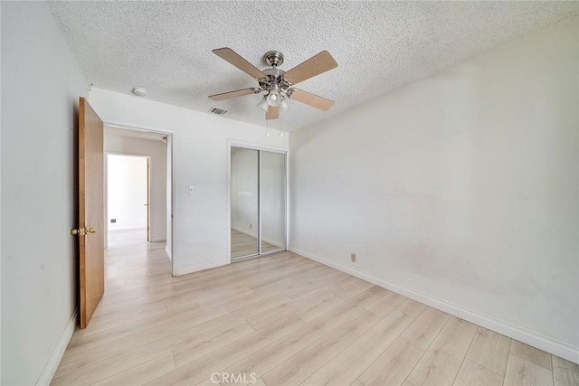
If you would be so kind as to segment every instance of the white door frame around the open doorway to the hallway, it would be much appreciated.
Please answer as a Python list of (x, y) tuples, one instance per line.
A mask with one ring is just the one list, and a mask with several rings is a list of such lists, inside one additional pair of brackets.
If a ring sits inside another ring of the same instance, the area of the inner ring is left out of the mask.
[[(133, 131), (142, 131), (142, 132), (146, 132), (146, 133), (157, 133), (157, 134), (165, 134), (167, 136), (166, 138), (166, 146), (167, 146), (167, 154), (170, 153), (171, 155), (171, 162), (167, 162), (167, 173), (171, 174), (171, 185), (169, 186), (169, 188), (171, 189), (171, 196), (170, 196), (170, 200), (171, 200), (171, 212), (167, 212), (166, 216), (167, 216), (167, 224), (169, 225), (170, 229), (166, 230), (167, 236), (171, 237), (171, 248), (166, 249), (167, 254), (171, 255), (171, 274), (173, 276), (176, 276), (176, 264), (175, 264), (175, 222), (174, 221), (174, 216), (173, 213), (175, 212), (175, 207), (176, 207), (176, 184), (175, 184), (175, 131), (174, 130), (169, 130), (166, 128), (161, 128), (161, 127), (148, 127), (148, 126), (143, 126), (143, 125), (134, 125), (131, 123), (127, 123), (127, 122), (118, 122), (118, 121), (111, 121), (111, 120), (103, 120), (105, 125), (108, 125), (110, 127), (119, 127), (122, 129), (126, 129), (126, 130), (133, 130)], [(169, 197), (167, 197), (169, 198)], [(106, 216), (107, 213), (105, 213)], [(106, 218), (106, 217), (105, 217)], [(167, 246), (168, 247), (168, 246)]]

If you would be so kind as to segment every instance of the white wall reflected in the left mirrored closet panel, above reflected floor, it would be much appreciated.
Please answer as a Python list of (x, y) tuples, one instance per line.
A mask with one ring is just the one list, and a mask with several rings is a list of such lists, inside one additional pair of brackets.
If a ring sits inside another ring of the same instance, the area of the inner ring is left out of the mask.
[(253, 237), (259, 230), (258, 156), (257, 150), (232, 149), (232, 228)]

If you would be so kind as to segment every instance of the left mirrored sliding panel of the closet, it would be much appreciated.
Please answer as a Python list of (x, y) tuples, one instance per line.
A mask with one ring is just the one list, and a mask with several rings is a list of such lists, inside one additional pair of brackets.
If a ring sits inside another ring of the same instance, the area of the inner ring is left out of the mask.
[(231, 255), (232, 259), (259, 253), (259, 152), (232, 147)]

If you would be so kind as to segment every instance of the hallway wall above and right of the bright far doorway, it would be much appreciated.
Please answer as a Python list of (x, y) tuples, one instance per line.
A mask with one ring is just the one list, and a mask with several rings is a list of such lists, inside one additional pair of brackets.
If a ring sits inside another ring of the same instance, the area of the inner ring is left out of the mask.
[[(105, 135), (105, 151), (119, 155), (147, 155), (150, 158), (150, 233), (151, 241), (166, 240), (167, 144), (146, 138)], [(147, 220), (147, 219), (146, 219)], [(107, 220), (109, 229), (110, 219)], [(145, 225), (147, 226), (147, 225)]]

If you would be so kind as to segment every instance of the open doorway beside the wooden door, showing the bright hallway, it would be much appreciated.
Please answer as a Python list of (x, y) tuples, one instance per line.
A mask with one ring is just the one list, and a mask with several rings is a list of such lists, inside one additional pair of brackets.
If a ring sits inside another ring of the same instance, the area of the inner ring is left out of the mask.
[(105, 248), (163, 243), (172, 260), (172, 135), (104, 127)]

